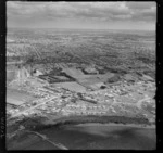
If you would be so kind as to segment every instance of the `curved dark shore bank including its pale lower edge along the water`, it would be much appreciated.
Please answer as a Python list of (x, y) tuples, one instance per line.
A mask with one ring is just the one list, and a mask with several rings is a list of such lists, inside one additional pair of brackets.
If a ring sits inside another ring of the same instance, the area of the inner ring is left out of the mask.
[(67, 116), (52, 120), (51, 123), (42, 122), (35, 126), (33, 130), (42, 130), (51, 127), (61, 127), (65, 125), (82, 125), (82, 124), (109, 124), (123, 125), (140, 128), (154, 128), (155, 125), (149, 123), (146, 118), (126, 117), (126, 116)]

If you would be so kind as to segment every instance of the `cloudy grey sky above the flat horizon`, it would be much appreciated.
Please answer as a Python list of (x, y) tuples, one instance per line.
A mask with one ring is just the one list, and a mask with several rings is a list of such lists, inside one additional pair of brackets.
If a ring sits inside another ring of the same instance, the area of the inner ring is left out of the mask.
[(7, 2), (7, 26), (155, 30), (155, 2)]

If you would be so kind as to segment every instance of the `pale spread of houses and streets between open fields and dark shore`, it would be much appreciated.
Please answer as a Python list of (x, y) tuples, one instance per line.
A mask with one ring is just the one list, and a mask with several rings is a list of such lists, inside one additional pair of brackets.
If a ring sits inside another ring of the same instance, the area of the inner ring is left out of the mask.
[[(29, 76), (26, 69), (20, 71), (17, 76), (17, 80), (12, 82), (14, 88), (35, 97), (34, 100), (7, 111), (9, 119), (17, 118), (18, 120), (26, 116), (48, 118), (50, 115), (55, 118), (55, 116), (68, 115), (141, 114), (139, 109), (141, 103), (150, 102), (152, 99), (148, 94), (148, 89), (154, 87), (154, 82), (150, 81), (127, 82), (124, 80), (105, 89), (75, 92), (50, 85), (36, 76)], [(21, 86), (16, 81), (21, 81)]]

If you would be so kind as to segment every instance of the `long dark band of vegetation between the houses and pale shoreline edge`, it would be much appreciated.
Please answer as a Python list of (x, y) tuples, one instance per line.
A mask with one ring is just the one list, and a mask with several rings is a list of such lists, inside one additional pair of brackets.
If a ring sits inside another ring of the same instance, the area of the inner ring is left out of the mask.
[[(37, 120), (38, 119), (38, 120)], [(86, 124), (86, 123), (100, 123), (100, 124), (136, 124), (136, 125), (151, 125), (147, 118), (142, 117), (125, 117), (125, 116), (70, 116), (70, 117), (61, 117), (55, 119), (54, 123), (45, 125), (43, 122), (40, 122), (40, 118), (35, 118), (32, 122), (28, 120), (27, 123), (24, 122), (24, 126), (28, 130), (43, 130), (51, 127), (60, 128), (64, 125), (78, 125), (78, 124)]]

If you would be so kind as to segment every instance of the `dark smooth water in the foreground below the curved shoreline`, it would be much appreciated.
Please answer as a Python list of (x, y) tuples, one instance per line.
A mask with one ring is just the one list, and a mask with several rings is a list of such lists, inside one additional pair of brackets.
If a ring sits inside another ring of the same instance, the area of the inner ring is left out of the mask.
[[(51, 141), (59, 142), (70, 150), (154, 150), (156, 149), (155, 128), (111, 124), (66, 125), (39, 131)], [(55, 150), (50, 143), (40, 140), (25, 150)]]

